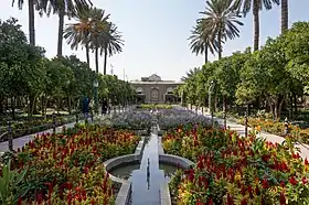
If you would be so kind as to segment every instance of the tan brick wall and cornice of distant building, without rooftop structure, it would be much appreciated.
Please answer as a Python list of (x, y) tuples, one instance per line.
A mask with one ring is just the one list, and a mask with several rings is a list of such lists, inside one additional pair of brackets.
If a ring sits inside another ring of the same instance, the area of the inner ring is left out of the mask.
[[(164, 94), (168, 93), (168, 90), (174, 89), (177, 86), (181, 84), (177, 83), (160, 83), (160, 82), (153, 82), (153, 83), (131, 83), (131, 85), (135, 87), (135, 89), (140, 90), (142, 88), (143, 94), (146, 95), (146, 102), (159, 102), (162, 104), (164, 102)], [(158, 98), (156, 99), (158, 94)], [(152, 95), (152, 96), (151, 96)]]

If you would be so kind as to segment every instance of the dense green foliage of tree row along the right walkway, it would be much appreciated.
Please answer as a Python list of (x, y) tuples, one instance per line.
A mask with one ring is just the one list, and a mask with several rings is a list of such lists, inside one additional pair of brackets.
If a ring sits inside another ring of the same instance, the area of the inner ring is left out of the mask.
[(260, 51), (252, 53), (247, 48), (206, 63), (185, 78), (182, 85), (185, 100), (203, 105), (210, 82), (214, 80), (219, 102), (222, 98), (232, 105), (247, 105), (258, 99), (278, 119), (290, 96), (301, 96), (309, 90), (308, 33), (309, 23), (297, 22), (283, 35), (268, 39)]

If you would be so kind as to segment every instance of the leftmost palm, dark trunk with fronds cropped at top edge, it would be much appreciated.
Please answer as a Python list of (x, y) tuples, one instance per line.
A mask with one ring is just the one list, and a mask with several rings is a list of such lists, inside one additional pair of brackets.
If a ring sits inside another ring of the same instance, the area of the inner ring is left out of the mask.
[[(12, 7), (15, 0), (12, 0)], [(21, 10), (24, 0), (17, 0), (18, 8)], [(35, 45), (35, 30), (34, 30), (34, 6), (38, 4), (38, 0), (28, 0), (28, 11), (29, 11), (29, 43)]]

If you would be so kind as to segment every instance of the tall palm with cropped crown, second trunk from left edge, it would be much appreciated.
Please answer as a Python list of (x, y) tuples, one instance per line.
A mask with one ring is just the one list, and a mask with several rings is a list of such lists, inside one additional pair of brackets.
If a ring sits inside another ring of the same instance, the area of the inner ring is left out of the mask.
[(78, 10), (92, 4), (90, 0), (39, 0), (40, 10), (44, 11), (47, 17), (53, 12), (58, 15), (58, 41), (57, 56), (62, 56), (63, 33), (64, 33), (64, 17), (74, 17)]

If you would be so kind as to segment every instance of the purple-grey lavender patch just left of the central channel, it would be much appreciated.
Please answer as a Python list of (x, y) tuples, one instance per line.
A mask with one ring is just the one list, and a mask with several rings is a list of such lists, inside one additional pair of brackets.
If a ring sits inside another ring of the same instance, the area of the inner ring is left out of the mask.
[(116, 129), (150, 130), (153, 126), (153, 117), (148, 111), (116, 114), (111, 118), (111, 126)]

